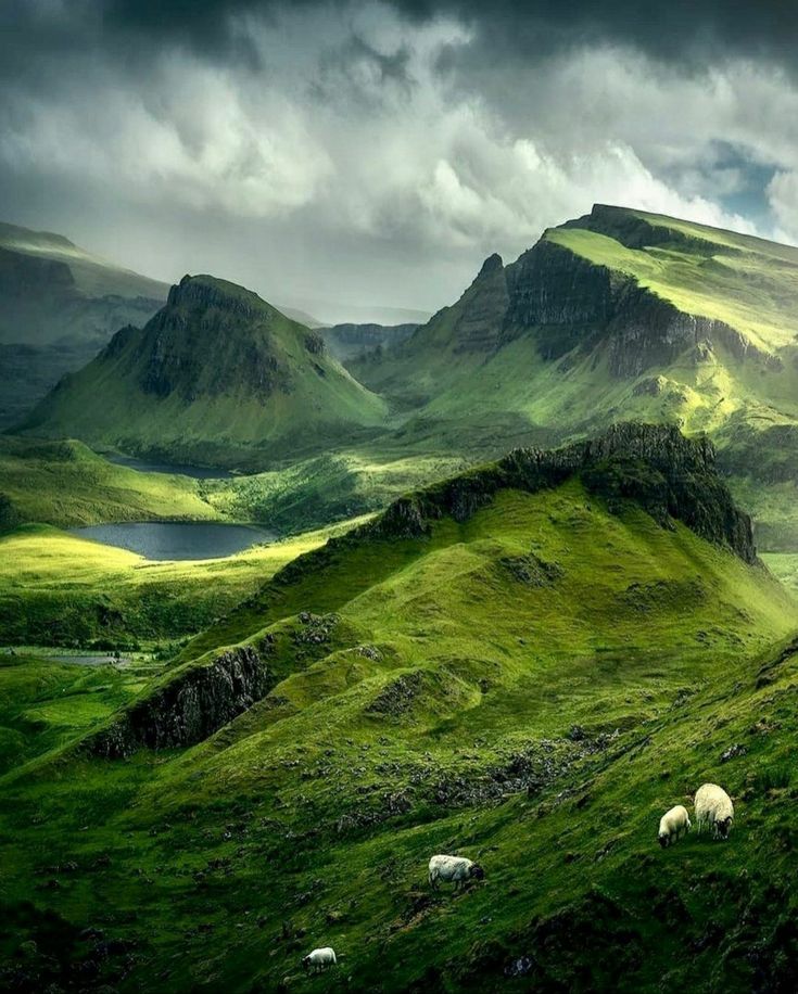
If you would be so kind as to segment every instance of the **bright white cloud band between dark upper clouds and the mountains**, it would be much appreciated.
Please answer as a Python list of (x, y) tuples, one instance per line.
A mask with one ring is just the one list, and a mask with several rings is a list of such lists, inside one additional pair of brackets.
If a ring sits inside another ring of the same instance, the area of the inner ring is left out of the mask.
[[(131, 212), (262, 218), (265, 239), (293, 224), (308, 257), (335, 257), (339, 282), (342, 243), (363, 269), (390, 242), (409, 260), (408, 305), (446, 300), (452, 259), (467, 283), (479, 256), (512, 257), (594, 202), (752, 230), (722, 206), (745, 189), (746, 158), (777, 170), (774, 221), (798, 233), (798, 92), (767, 65), (686, 74), (597, 48), (508, 68), (473, 60), (464, 25), (407, 23), (379, 3), (297, 5), (237, 29), (261, 68), (169, 49), (145, 72), (102, 53), (43, 62), (61, 84), (7, 94), (0, 167), (68, 177)], [(740, 162), (720, 162), (719, 142)], [(375, 295), (400, 303), (390, 280)]]

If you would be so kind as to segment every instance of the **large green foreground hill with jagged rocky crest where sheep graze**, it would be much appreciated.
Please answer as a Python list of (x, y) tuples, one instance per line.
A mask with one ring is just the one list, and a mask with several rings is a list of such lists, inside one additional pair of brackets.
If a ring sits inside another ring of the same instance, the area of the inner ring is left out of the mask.
[[(791, 990), (794, 624), (712, 445), (624, 424), (407, 495), (156, 675), (9, 661), (2, 979)], [(705, 780), (731, 840), (660, 850)]]

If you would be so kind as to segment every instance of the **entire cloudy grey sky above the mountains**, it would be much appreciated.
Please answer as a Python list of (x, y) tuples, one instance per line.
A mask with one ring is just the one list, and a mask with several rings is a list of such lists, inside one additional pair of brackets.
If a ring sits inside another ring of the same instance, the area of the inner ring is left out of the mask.
[(594, 202), (797, 242), (798, 5), (654, 7), (0, 0), (0, 218), (334, 319)]

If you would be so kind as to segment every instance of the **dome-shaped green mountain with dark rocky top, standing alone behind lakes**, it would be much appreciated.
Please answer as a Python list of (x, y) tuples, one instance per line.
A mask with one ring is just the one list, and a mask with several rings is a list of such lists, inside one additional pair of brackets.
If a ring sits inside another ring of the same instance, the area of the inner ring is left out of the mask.
[(22, 430), (240, 466), (356, 436), (383, 416), (316, 332), (241, 286), (187, 276), (142, 329), (123, 328), (65, 377)]

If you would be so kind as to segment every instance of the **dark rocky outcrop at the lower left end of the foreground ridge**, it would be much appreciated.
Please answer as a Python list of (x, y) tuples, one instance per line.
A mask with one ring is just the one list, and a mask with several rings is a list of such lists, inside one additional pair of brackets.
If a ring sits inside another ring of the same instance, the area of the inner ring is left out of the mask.
[(275, 677), (252, 648), (223, 652), (208, 665), (178, 673), (86, 740), (94, 755), (121, 759), (137, 749), (192, 746), (265, 697)]

